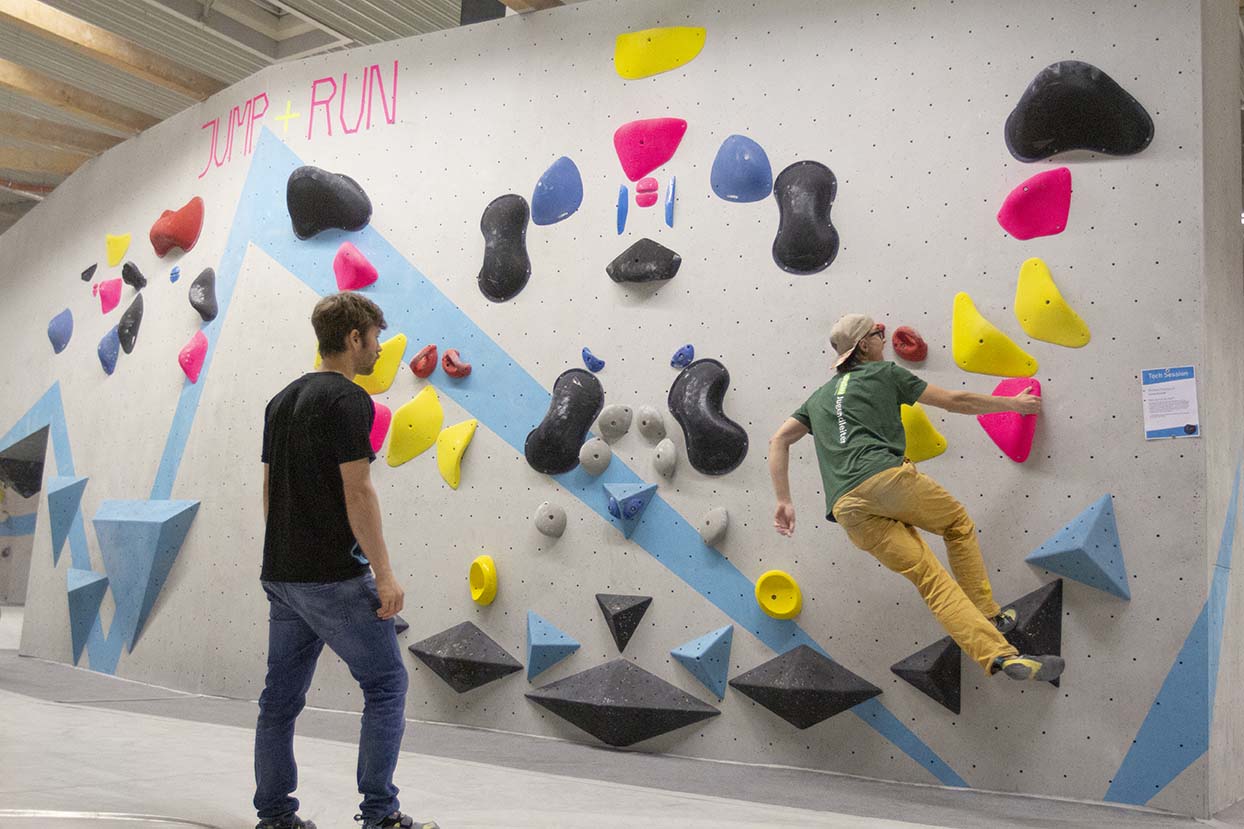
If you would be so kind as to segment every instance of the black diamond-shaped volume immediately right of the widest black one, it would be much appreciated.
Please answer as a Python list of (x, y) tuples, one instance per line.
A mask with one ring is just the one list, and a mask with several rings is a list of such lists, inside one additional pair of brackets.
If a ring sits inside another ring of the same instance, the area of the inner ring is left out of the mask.
[(807, 645), (734, 677), (730, 685), (796, 728), (815, 726), (881, 693)]

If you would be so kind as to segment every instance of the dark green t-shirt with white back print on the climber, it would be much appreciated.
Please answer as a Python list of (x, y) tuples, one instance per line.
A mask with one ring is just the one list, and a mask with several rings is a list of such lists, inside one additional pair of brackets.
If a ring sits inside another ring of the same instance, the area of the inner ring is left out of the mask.
[(825, 484), (826, 518), (833, 504), (865, 480), (902, 464), (907, 452), (901, 406), (927, 382), (889, 361), (865, 362), (835, 375), (791, 417), (812, 431)]

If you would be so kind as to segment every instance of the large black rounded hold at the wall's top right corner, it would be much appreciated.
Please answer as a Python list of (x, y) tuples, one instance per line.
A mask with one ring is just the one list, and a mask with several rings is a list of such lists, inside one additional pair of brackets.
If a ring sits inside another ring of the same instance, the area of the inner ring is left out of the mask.
[(1006, 116), (1006, 149), (1021, 162), (1069, 149), (1132, 156), (1153, 141), (1140, 101), (1092, 63), (1059, 61), (1041, 70)]

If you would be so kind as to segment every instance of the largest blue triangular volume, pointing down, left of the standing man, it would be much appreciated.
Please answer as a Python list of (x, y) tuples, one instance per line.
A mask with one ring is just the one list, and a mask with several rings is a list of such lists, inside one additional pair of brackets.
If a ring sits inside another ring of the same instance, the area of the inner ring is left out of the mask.
[(197, 500), (106, 500), (92, 519), (117, 601), (112, 624), (131, 651), (198, 510)]

